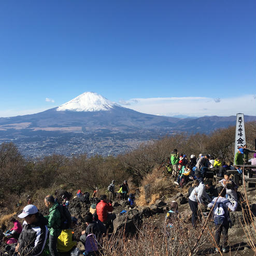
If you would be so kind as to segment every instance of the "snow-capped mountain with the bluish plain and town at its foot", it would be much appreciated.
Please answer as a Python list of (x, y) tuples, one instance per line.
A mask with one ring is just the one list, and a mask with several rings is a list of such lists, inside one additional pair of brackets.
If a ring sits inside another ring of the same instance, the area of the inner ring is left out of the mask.
[[(245, 121), (256, 117), (245, 116)], [(14, 141), (32, 157), (61, 153), (118, 154), (142, 141), (180, 132), (210, 133), (235, 125), (236, 116), (174, 118), (148, 115), (86, 92), (32, 115), (0, 118), (0, 143)]]

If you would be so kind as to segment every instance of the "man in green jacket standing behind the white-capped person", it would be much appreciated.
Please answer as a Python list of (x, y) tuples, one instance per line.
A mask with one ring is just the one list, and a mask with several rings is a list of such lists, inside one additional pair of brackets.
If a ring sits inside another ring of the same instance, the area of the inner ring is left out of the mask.
[(57, 240), (62, 230), (59, 204), (55, 203), (52, 195), (47, 195), (45, 197), (45, 205), (49, 209), (49, 215), (45, 216), (45, 218), (48, 220), (50, 254), (51, 256), (58, 256)]

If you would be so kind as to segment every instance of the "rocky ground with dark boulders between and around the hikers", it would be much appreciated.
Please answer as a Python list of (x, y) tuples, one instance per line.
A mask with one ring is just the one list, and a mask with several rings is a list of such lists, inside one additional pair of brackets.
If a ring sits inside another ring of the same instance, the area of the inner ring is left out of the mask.
[[(243, 193), (244, 188), (241, 187), (239, 190)], [(188, 194), (187, 189), (182, 189), (180, 192), (170, 196), (163, 196), (161, 200), (155, 201), (154, 204), (147, 206), (135, 206), (131, 208), (127, 201), (115, 201), (112, 202), (114, 207), (113, 212), (116, 214), (117, 218), (113, 221), (113, 233), (116, 234), (119, 231), (123, 230), (125, 227), (125, 233), (134, 234), (137, 231), (137, 227), (140, 227), (144, 224), (150, 223), (151, 225), (155, 225), (157, 228), (160, 223), (164, 222), (164, 217), (166, 212), (169, 209), (170, 202), (176, 201), (179, 205), (179, 212), (182, 220), (186, 221), (190, 224), (191, 221), (191, 210), (188, 204)], [(79, 236), (82, 230), (86, 229), (86, 224), (84, 223), (84, 217), (86, 213), (89, 211), (92, 203), (95, 202), (95, 198), (91, 198), (91, 202), (82, 203), (78, 198), (72, 199), (72, 195), (64, 190), (57, 190), (55, 192), (55, 197), (58, 198), (58, 201), (61, 202), (61, 196), (65, 194), (68, 198), (70, 198), (69, 211), (72, 216), (78, 218), (78, 224), (75, 229), (75, 237), (79, 240)], [(244, 193), (243, 193), (244, 194)], [(251, 188), (247, 192), (248, 202), (251, 209), (251, 214), (253, 217), (254, 225), (256, 216), (256, 202), (255, 202), (255, 188)], [(246, 204), (244, 204), (244, 209), (248, 208)], [(120, 212), (122, 210), (126, 210), (126, 212), (121, 215)], [(47, 210), (43, 212), (47, 214)], [(245, 225), (245, 219), (243, 216), (243, 211), (241, 208), (238, 211), (230, 212), (230, 217), (233, 222), (232, 228), (229, 230), (229, 243), (231, 246), (231, 252), (229, 255), (243, 255), (249, 256), (254, 255), (254, 252), (251, 250), (247, 236), (245, 234), (244, 229), (248, 227), (253, 231), (253, 223), (249, 223)], [(202, 229), (204, 220), (202, 219), (202, 224), (199, 224), (197, 229)], [(244, 229), (243, 229), (243, 226)], [(205, 232), (208, 232), (205, 230)], [(246, 230), (248, 234), (248, 230)], [(255, 233), (252, 233), (252, 236)], [(79, 244), (80, 249), (82, 249), (82, 245)], [(219, 253), (210, 252), (209, 248), (213, 248), (212, 245), (205, 246), (205, 250), (201, 252), (200, 255), (219, 255)]]

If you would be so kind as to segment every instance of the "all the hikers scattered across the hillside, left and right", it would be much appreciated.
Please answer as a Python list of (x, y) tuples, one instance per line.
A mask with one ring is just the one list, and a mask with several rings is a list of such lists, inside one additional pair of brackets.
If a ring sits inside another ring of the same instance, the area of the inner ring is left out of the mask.
[[(230, 173), (227, 170), (237, 169), (239, 174), (241, 170), (236, 166), (240, 165), (240, 160), (243, 163), (248, 163), (248, 152), (254, 152), (245, 147), (238, 150), (235, 158), (235, 165), (232, 162), (225, 163), (219, 158), (213, 159), (210, 155), (200, 154), (198, 158), (191, 155), (188, 160), (186, 154), (179, 154), (177, 149), (174, 149), (168, 159), (166, 168), (175, 179), (174, 183), (180, 187), (184, 186), (190, 180), (193, 181), (193, 186), (189, 188), (188, 203), (192, 211), (192, 226), (198, 225), (200, 215), (207, 216), (211, 210), (212, 218), (216, 226), (215, 240), (217, 243), (216, 251), (220, 250), (220, 236), (223, 234), (222, 251), (229, 251), (227, 248), (227, 234), (229, 227), (232, 225), (229, 211), (235, 211), (238, 207), (239, 192), (237, 192), (239, 184), (236, 184)], [(256, 153), (250, 159), (251, 164), (256, 164)], [(255, 162), (254, 162), (255, 161)], [(206, 179), (206, 172), (210, 168), (219, 167), (217, 175), (223, 177), (219, 181), (219, 186), (215, 187), (212, 181)], [(131, 206), (134, 206), (134, 194), (129, 194), (130, 189), (127, 180), (119, 184), (118, 189), (115, 188), (115, 180), (112, 180), (106, 194), (100, 195), (99, 200), (93, 203), (90, 211), (83, 218), (87, 225), (86, 230), (80, 234), (80, 241), (84, 245), (84, 256), (95, 256), (99, 254), (101, 241), (107, 234), (107, 230), (113, 230), (113, 220), (116, 215), (112, 213), (112, 201), (127, 200)], [(77, 195), (79, 200), (89, 198), (88, 192), (82, 193), (78, 190)], [(98, 197), (98, 188), (93, 192), (92, 197)], [(79, 249), (77, 241), (74, 239), (74, 227), (78, 225), (78, 219), (72, 217), (69, 213), (68, 198), (63, 195), (62, 201), (58, 202), (52, 195), (47, 195), (44, 200), (45, 206), (49, 209), (49, 215), (43, 216), (38, 208), (32, 204), (31, 199), (23, 208), (23, 211), (18, 218), (23, 219), (23, 224), (11, 218), (13, 223), (12, 229), (5, 233), (3, 238), (6, 243), (6, 253), (9, 255), (27, 255), (27, 256), (58, 256), (71, 255), (78, 256)], [(175, 225), (175, 219), (179, 216), (178, 204), (173, 201), (166, 214), (165, 221), (168, 227)]]

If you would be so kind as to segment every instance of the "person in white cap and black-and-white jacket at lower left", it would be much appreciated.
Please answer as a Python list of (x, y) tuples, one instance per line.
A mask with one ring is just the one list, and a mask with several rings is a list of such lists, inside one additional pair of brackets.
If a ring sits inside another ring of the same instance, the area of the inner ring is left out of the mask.
[(15, 251), (19, 255), (40, 255), (45, 249), (48, 236), (47, 219), (35, 205), (25, 206), (18, 217), (24, 219), (24, 222)]

